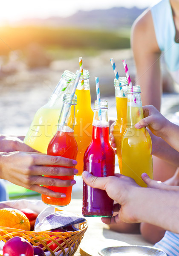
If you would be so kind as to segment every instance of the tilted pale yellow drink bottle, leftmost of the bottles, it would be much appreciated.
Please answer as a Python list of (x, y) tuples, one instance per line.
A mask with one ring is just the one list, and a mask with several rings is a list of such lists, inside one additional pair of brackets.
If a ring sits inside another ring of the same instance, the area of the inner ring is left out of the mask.
[(57, 131), (64, 93), (70, 90), (75, 77), (74, 73), (64, 71), (49, 101), (35, 113), (24, 143), (42, 153), (47, 152), (49, 142)]

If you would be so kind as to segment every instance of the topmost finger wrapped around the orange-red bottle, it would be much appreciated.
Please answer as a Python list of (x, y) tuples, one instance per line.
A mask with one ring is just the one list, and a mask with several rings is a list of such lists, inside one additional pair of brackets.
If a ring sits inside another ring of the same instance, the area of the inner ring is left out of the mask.
[(59, 166), (75, 166), (76, 160), (72, 160), (66, 157), (59, 156), (47, 156), (43, 154), (31, 154), (34, 165), (59, 165)]

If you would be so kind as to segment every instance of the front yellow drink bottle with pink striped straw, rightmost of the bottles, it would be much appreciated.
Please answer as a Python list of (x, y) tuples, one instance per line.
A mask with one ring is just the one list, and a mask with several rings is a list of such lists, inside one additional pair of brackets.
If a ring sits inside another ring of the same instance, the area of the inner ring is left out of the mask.
[(140, 93), (140, 86), (127, 88), (127, 129), (121, 140), (122, 174), (146, 187), (141, 174), (146, 172), (153, 179), (152, 142), (146, 128), (134, 127), (144, 117)]

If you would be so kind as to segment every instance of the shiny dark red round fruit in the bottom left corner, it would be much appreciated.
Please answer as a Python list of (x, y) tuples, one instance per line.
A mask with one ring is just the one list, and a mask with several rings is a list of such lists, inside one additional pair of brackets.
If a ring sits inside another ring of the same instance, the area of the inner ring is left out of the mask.
[(25, 239), (15, 236), (9, 239), (3, 246), (3, 255), (9, 253), (9, 256), (19, 256), (25, 254), (26, 256), (34, 256), (32, 245)]

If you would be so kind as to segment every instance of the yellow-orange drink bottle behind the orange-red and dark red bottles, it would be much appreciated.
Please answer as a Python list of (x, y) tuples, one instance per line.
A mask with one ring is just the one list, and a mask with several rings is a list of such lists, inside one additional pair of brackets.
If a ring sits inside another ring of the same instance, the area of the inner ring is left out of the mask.
[[(76, 75), (80, 70), (76, 71)], [(91, 142), (92, 134), (92, 120), (93, 111), (91, 109), (91, 95), (90, 95), (90, 83), (89, 72), (83, 70), (83, 75), (80, 77), (78, 87), (76, 89), (77, 105), (75, 108), (75, 127), (74, 137), (78, 145), (78, 154), (76, 168), (78, 169), (78, 176), (81, 176), (84, 166), (84, 153)], [(84, 81), (84, 85), (81, 85), (81, 81)]]

